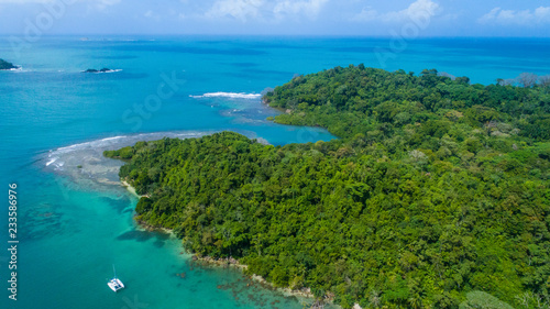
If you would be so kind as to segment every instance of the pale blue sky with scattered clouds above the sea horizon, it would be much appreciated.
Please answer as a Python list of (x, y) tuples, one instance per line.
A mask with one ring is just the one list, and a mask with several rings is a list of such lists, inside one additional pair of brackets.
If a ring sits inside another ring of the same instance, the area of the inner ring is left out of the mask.
[(550, 0), (0, 0), (0, 34), (550, 36)]

